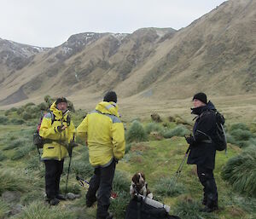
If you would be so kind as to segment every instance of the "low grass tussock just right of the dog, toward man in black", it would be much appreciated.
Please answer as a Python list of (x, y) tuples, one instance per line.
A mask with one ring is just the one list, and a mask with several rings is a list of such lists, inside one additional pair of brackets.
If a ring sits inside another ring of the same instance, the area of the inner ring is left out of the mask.
[(161, 178), (160, 182), (154, 187), (154, 191), (158, 196), (175, 197), (186, 192), (186, 188), (182, 183), (173, 182), (172, 178)]

